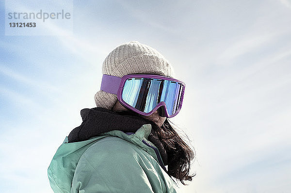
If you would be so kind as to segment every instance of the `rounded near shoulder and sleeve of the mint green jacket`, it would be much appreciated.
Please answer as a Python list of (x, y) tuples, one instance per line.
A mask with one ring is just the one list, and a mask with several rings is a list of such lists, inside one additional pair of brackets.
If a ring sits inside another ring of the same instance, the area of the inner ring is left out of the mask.
[(81, 156), (72, 193), (81, 190), (163, 193), (167, 188), (161, 168), (150, 154), (124, 139), (110, 136), (98, 140)]

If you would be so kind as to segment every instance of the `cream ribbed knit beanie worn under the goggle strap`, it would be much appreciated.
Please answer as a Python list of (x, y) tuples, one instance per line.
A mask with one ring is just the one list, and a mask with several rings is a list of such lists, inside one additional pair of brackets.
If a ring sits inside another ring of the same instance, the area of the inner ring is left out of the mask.
[[(127, 74), (157, 74), (174, 76), (171, 64), (154, 48), (137, 41), (117, 46), (106, 57), (102, 74), (122, 77)], [(97, 107), (112, 109), (117, 95), (97, 91), (94, 96)]]

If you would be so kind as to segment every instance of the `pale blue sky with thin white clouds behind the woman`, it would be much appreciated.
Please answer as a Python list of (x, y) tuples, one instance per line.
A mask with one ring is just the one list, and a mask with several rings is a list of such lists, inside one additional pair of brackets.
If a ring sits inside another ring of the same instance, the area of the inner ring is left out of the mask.
[(52, 193), (54, 153), (95, 107), (103, 60), (129, 41), (157, 49), (186, 83), (170, 120), (191, 139), (196, 176), (180, 192), (290, 192), (291, 0), (72, 4), (72, 28), (11, 36), (0, 1), (1, 193)]

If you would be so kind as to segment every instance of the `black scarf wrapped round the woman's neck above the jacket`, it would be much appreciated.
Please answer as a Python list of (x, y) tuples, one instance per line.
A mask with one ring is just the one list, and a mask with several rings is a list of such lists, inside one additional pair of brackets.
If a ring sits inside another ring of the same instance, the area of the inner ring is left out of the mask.
[[(84, 108), (81, 110), (81, 117), (82, 124), (68, 135), (69, 143), (85, 141), (113, 130), (135, 133), (142, 125), (149, 123), (141, 117), (119, 115), (112, 110), (101, 107)], [(154, 129), (151, 129), (148, 140), (159, 149), (162, 161), (167, 165), (167, 152)]]

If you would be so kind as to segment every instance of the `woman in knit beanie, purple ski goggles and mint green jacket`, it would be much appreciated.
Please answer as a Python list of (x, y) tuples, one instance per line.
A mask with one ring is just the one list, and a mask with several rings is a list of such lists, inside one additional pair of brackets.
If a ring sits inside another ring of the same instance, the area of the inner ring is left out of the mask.
[[(176, 193), (194, 152), (168, 118), (185, 85), (155, 49), (131, 41), (104, 60), (97, 107), (65, 138), (48, 169), (55, 193)], [(167, 165), (167, 168), (166, 168)]]

